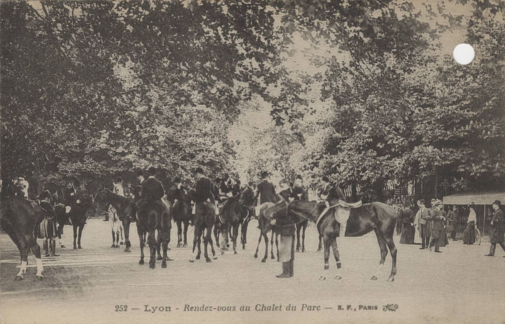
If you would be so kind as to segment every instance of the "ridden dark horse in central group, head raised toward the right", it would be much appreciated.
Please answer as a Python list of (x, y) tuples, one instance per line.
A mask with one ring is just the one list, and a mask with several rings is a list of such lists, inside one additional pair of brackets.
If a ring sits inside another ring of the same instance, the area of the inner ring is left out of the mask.
[[(251, 208), (253, 202), (254, 190), (250, 187), (246, 187), (238, 195), (228, 198), (219, 211), (218, 219), (221, 233), (228, 233), (231, 228), (231, 241), (233, 244), (234, 254), (237, 254), (238, 228), (244, 223), (246, 218), (249, 218), (249, 209)], [(244, 240), (245, 236), (243, 236), (242, 249), (245, 249)], [(216, 237), (216, 242), (217, 241), (218, 238)]]

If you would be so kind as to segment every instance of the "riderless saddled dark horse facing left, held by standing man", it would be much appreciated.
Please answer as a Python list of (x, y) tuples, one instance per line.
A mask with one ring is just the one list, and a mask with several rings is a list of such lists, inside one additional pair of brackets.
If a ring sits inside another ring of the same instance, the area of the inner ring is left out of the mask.
[[(330, 202), (330, 206), (336, 204), (336, 201)], [(341, 207), (331, 208), (320, 218), (325, 207), (324, 203), (315, 201), (293, 201), (289, 203), (287, 208), (288, 212), (292, 212), (295, 215), (307, 218), (316, 223), (318, 231), (323, 237), (324, 269), (329, 269), (328, 259), (330, 256), (330, 247), (337, 263), (337, 269), (339, 269), (341, 267), (341, 262), (336, 238), (340, 236), (340, 224), (335, 220), (334, 216), (336, 209)], [(387, 279), (388, 282), (394, 281), (394, 275), (396, 274), (396, 247), (393, 242), (395, 224), (396, 211), (392, 207), (380, 202), (363, 204), (360, 207), (350, 209), (346, 230), (344, 235), (342, 235), (342, 237), (358, 237), (370, 233), (372, 230), (375, 232), (381, 252), (379, 268), (384, 265), (388, 248), (391, 253), (392, 266), (391, 274)], [(326, 276), (322, 275), (320, 279), (324, 280)], [(341, 279), (341, 276), (337, 275), (335, 279)], [(373, 275), (371, 279), (377, 280), (377, 276)]]

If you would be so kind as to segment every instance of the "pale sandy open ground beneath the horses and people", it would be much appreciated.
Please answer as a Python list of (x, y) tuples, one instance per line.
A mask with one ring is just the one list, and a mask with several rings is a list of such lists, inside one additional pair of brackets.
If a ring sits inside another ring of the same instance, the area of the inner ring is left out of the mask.
[[(156, 269), (149, 269), (148, 257), (144, 265), (138, 264), (134, 224), (132, 252), (124, 253), (123, 247), (110, 248), (109, 223), (91, 219), (83, 232), (82, 250), (58, 249), (61, 256), (43, 258), (42, 282), (35, 281), (33, 255), (29, 257), (25, 280), (13, 281), (19, 253), (9, 237), (0, 232), (1, 322), (505, 322), (504, 253), (499, 250), (494, 258), (485, 257), (487, 242), (480, 246), (450, 242), (438, 254), (421, 251), (417, 245), (399, 245), (399, 236), (395, 236), (398, 274), (393, 283), (388, 283), (389, 255), (383, 269), (376, 272), (379, 280), (370, 280), (380, 259), (374, 234), (338, 239), (343, 279), (333, 280), (334, 259), (330, 258), (329, 272), (323, 271), (323, 254), (316, 252), (317, 231), (311, 226), (306, 234), (308, 252), (295, 256), (295, 276), (277, 279), (280, 263), (270, 258), (266, 263), (260, 262), (263, 243), (260, 258), (253, 258), (259, 235), (256, 225), (256, 221), (249, 225), (246, 250), (240, 249), (238, 255), (218, 255), (212, 263), (205, 259), (190, 263), (189, 248), (175, 248), (174, 226), (169, 256), (175, 260), (166, 269), (161, 268), (160, 261)], [(71, 232), (67, 226), (67, 247), (71, 246)], [(188, 241), (192, 241), (192, 235), (188, 233)], [(40, 240), (39, 244), (42, 246)], [(324, 272), (328, 279), (319, 281)], [(262, 304), (282, 308), (257, 311), (258, 304), (260, 308)], [(303, 304), (315, 309), (301, 310)], [(127, 310), (119, 311), (117, 305), (127, 305)], [(296, 306), (296, 310), (286, 310), (288, 305)], [(360, 309), (360, 305), (372, 309)], [(397, 308), (387, 310), (385, 305)], [(163, 307), (155, 312), (145, 311), (145, 307), (153, 306)], [(170, 311), (166, 311), (166, 306)], [(212, 306), (212, 310), (184, 310), (191, 306)], [(223, 311), (221, 307), (226, 306), (234, 306), (235, 310)], [(240, 310), (241, 306), (249, 306), (250, 310)]]

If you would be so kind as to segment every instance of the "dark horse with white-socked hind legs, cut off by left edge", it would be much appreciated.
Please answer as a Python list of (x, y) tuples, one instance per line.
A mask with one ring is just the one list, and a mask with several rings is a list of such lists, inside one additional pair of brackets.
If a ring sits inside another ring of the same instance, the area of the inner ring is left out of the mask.
[(33, 235), (40, 219), (42, 209), (35, 203), (22, 197), (2, 197), (0, 202), (0, 226), (18, 247), (21, 255), (21, 267), (15, 276), (16, 281), (23, 280), (28, 265), (28, 253), (35, 254), (37, 261), (37, 280), (42, 280), (42, 259), (40, 246)]

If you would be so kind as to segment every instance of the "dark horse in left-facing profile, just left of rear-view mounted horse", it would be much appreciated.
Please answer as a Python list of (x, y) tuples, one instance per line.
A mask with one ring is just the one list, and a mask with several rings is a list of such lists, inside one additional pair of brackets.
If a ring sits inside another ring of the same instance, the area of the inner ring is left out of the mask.
[[(130, 224), (135, 220), (134, 215), (126, 213), (126, 208), (132, 203), (133, 199), (130, 197), (124, 197), (113, 193), (107, 188), (100, 188), (96, 192), (95, 202), (101, 203), (106, 202), (116, 209), (118, 213), (119, 220), (123, 224), (124, 234), (125, 234), (125, 249), (124, 252), (131, 252), (131, 242), (130, 242)], [(117, 235), (117, 234), (116, 234)], [(114, 231), (112, 231), (112, 239), (114, 246)], [(119, 239), (119, 238), (118, 238)], [(119, 247), (117, 245), (116, 247)]]

